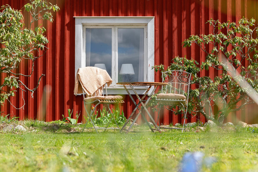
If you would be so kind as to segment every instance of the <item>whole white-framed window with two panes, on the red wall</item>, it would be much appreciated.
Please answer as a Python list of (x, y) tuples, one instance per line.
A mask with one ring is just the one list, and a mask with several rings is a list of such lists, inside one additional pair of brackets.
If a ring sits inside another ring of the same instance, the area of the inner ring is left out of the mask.
[(106, 69), (114, 93), (117, 82), (154, 82), (154, 17), (75, 17), (75, 72), (85, 66)]

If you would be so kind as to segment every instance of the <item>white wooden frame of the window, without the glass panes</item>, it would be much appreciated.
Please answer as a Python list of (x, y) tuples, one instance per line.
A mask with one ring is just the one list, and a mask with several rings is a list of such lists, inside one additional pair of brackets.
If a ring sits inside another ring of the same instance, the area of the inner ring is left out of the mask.
[[(78, 68), (86, 65), (86, 28), (112, 28), (112, 44), (117, 41), (117, 31), (113, 35), (113, 29), (117, 28), (144, 28), (144, 81), (154, 82), (154, 17), (74, 17), (75, 18), (75, 74)], [(115, 50), (116, 48), (116, 50)], [(118, 67), (117, 67), (117, 47), (112, 45), (112, 58), (115, 57), (115, 63), (112, 62), (111, 78), (115, 78), (113, 84), (108, 88), (109, 94), (127, 94), (123, 86), (116, 85)], [(113, 60), (112, 60), (113, 61)], [(136, 87), (138, 94), (144, 94), (146, 88)], [(134, 94), (132, 90), (130, 93)]]

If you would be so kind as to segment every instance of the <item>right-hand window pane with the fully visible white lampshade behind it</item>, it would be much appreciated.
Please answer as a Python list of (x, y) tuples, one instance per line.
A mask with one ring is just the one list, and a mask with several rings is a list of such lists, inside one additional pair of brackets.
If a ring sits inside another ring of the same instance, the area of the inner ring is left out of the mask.
[(143, 28), (118, 28), (118, 82), (143, 81), (143, 33)]

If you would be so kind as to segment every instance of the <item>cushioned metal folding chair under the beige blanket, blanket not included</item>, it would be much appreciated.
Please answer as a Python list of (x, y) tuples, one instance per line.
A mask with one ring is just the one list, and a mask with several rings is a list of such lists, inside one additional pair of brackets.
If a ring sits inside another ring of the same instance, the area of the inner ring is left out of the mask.
[[(110, 104), (117, 104), (117, 107), (116, 107), (116, 110), (114, 112), (116, 112), (118, 110), (118, 104), (119, 103), (124, 103), (124, 101), (122, 100), (122, 96), (119, 96), (119, 95), (109, 95), (107, 94), (107, 84), (105, 84), (105, 89), (106, 89), (106, 96), (104, 95), (104, 92), (102, 91), (102, 95), (100, 95), (100, 91), (97, 90), (95, 93), (93, 93), (92, 95), (88, 96), (85, 98), (84, 96), (84, 90), (83, 90), (83, 101), (84, 101), (84, 108), (85, 108), (85, 111), (87, 112), (87, 115), (88, 115), (88, 120), (86, 122), (86, 124), (84, 125), (84, 128), (83, 128), (83, 131), (85, 128), (94, 128), (96, 130), (96, 132), (98, 133), (98, 129), (104, 129), (104, 131), (106, 131), (106, 129), (119, 129), (119, 126), (114, 118), (114, 114), (111, 112), (110, 108), (109, 108), (109, 105)], [(102, 86), (102, 90), (103, 90), (103, 86)], [(89, 112), (87, 111), (87, 105), (91, 105), (91, 104), (94, 104), (94, 108), (92, 109), (91, 113), (89, 114)], [(99, 105), (99, 104), (106, 104), (107, 105), (107, 109), (108, 109), (108, 112), (110, 112), (111, 114), (111, 118), (110, 120), (108, 121), (108, 124), (106, 127), (95, 127), (94, 125), (94, 122), (92, 120), (92, 117), (93, 117), (93, 113), (96, 109), (96, 107)], [(115, 123), (116, 123), (116, 126), (118, 128), (108, 128), (111, 120), (114, 119)], [(88, 121), (91, 121), (93, 127), (86, 127), (86, 125), (88, 124)], [(83, 132), (82, 131), (82, 132)]]

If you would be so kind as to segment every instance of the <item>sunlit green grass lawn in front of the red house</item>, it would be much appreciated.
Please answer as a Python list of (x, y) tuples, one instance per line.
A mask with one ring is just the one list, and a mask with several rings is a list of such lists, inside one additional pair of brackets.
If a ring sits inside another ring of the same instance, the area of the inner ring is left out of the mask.
[(204, 171), (258, 167), (257, 133), (44, 131), (0, 133), (0, 138), (0, 171), (177, 171), (189, 151), (216, 158)]

